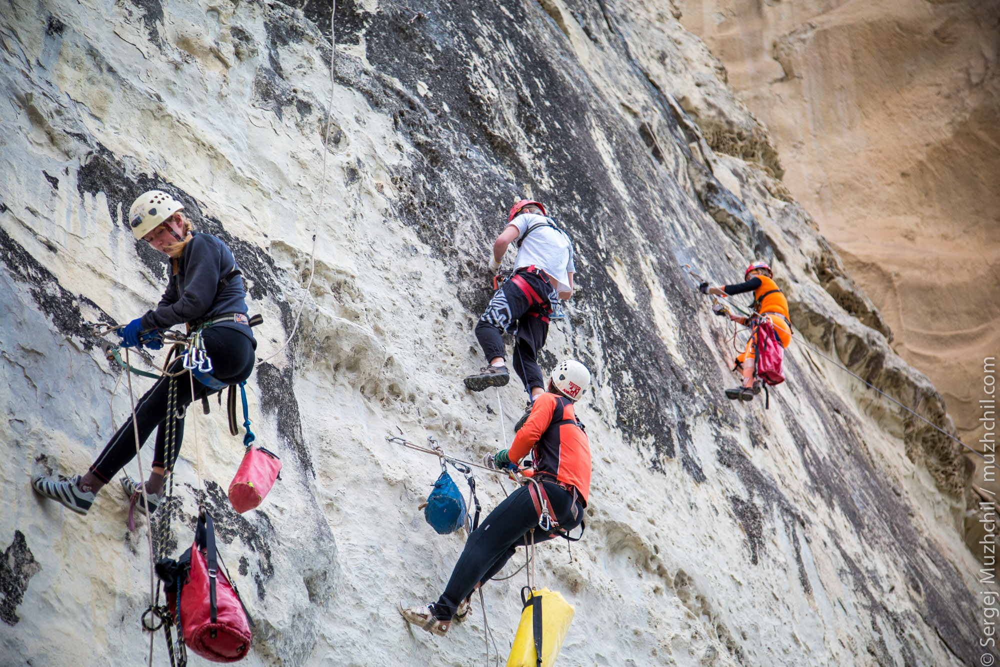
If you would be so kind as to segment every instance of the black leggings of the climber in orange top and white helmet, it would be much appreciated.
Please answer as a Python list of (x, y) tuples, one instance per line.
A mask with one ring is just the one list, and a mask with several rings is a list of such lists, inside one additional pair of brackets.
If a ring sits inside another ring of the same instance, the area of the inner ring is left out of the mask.
[[(549, 512), (559, 520), (559, 527), (570, 531), (583, 521), (583, 505), (576, 502), (573, 518), (573, 495), (552, 482), (543, 482), (549, 497)], [(518, 547), (531, 543), (532, 529), (538, 526), (538, 513), (531, 500), (531, 491), (523, 486), (495, 510), (472, 532), (465, 542), (465, 549), (455, 563), (448, 586), (434, 605), (434, 617), (442, 621), (455, 615), (459, 603), (472, 595), (476, 584), (492, 579), (507, 564)], [(551, 540), (551, 535), (535, 531), (534, 542)]]

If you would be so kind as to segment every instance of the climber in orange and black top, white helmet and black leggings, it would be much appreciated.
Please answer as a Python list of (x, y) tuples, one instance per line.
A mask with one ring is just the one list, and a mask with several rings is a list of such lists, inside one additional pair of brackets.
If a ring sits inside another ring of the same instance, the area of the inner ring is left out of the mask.
[[(510, 449), (492, 457), (493, 465), (504, 469), (531, 453), (533, 471), (522, 473), (533, 477), (537, 487), (525, 484), (490, 512), (469, 536), (438, 601), (401, 609), (403, 618), (444, 635), (452, 619), (462, 620), (468, 613), (473, 591), (500, 572), (517, 547), (565, 537), (583, 522), (590, 493), (590, 445), (576, 420), (574, 404), (589, 385), (590, 372), (583, 364), (569, 360), (556, 367), (548, 391), (532, 405)], [(547, 499), (551, 529), (541, 524), (539, 496)]]

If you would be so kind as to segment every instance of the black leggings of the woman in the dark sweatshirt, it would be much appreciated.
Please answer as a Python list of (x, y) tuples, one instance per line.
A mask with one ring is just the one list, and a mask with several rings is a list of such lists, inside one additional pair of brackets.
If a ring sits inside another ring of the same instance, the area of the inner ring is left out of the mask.
[[(254, 342), (245, 333), (234, 328), (213, 326), (202, 331), (205, 342), (205, 352), (212, 360), (212, 375), (219, 382), (236, 385), (253, 373)], [(170, 365), (170, 373), (183, 369), (183, 360), (177, 359)], [(167, 420), (167, 402), (170, 392), (170, 379), (160, 378), (153, 388), (146, 392), (135, 405), (135, 417), (139, 427), (139, 442), (145, 443), (154, 428), (156, 433), (156, 450), (153, 454), (152, 466), (172, 470), (177, 455), (180, 454), (181, 442), (184, 440), (184, 418), (174, 419), (174, 447), (167, 461), (166, 436), (170, 422)], [(188, 374), (174, 379), (177, 392), (177, 412), (183, 413), (191, 402), (191, 380)], [(214, 394), (197, 380), (194, 381), (194, 398)], [(97, 461), (90, 467), (94, 474), (104, 484), (110, 482), (125, 465), (135, 457), (135, 430), (132, 427), (132, 417), (108, 441), (107, 446)]]

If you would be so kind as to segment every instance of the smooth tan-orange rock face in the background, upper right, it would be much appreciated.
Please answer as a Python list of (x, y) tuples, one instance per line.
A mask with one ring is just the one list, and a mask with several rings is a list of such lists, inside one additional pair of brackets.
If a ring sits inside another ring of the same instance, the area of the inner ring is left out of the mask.
[(785, 185), (871, 295), (893, 349), (976, 443), (983, 359), (1000, 351), (1000, 3), (677, 6), (766, 123)]

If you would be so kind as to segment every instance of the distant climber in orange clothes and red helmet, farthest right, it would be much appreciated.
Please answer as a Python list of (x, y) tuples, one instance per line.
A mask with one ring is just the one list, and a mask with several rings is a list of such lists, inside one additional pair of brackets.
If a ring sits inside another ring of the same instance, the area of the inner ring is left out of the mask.
[[(708, 282), (702, 282), (698, 289), (703, 294), (715, 294), (718, 296), (731, 296), (753, 291), (754, 302), (750, 309), (760, 313), (771, 320), (774, 325), (774, 333), (781, 343), (782, 348), (787, 348), (792, 343), (792, 322), (788, 314), (788, 299), (778, 288), (774, 281), (774, 271), (764, 261), (755, 261), (747, 266), (744, 271), (744, 282), (737, 284), (727, 284), (722, 287), (710, 287)], [(747, 323), (747, 317), (734, 315), (729, 309), (720, 304), (713, 306), (712, 311), (717, 315), (729, 315), (729, 318), (740, 324)], [(754, 359), (754, 349), (757, 346), (757, 329), (754, 328), (750, 340), (747, 341), (746, 350), (736, 358), (736, 367), (743, 374), (743, 385), (734, 389), (726, 390), (726, 398), (735, 401), (753, 401), (756, 394), (760, 394), (760, 381), (755, 380), (756, 360)], [(747, 360), (751, 360), (747, 364)]]

